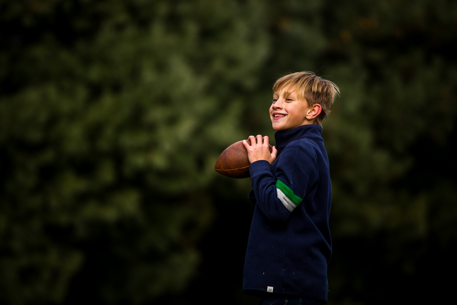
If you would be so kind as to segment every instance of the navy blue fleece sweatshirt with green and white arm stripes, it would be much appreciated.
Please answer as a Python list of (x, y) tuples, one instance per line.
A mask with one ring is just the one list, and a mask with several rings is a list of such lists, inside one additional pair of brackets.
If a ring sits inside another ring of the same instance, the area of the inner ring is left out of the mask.
[(329, 160), (319, 125), (275, 133), (275, 162), (249, 166), (254, 216), (244, 262), (243, 291), (296, 294), (327, 302)]

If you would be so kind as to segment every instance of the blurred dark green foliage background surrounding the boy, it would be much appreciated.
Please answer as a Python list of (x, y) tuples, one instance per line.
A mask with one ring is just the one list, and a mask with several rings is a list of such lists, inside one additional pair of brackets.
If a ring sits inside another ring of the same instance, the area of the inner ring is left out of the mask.
[(0, 0), (0, 304), (257, 304), (247, 179), (289, 71), (334, 81), (329, 304), (453, 302), (457, 2)]

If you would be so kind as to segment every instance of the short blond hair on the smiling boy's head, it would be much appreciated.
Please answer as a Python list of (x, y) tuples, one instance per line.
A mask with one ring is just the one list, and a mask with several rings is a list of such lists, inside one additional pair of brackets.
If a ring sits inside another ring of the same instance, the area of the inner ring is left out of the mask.
[(308, 107), (319, 104), (322, 112), (315, 118), (314, 123), (322, 125), (322, 120), (330, 114), (330, 105), (335, 96), (340, 94), (340, 89), (331, 81), (324, 80), (313, 72), (303, 71), (282, 76), (273, 85), (273, 93), (283, 89), (296, 90), (299, 98), (308, 103)]

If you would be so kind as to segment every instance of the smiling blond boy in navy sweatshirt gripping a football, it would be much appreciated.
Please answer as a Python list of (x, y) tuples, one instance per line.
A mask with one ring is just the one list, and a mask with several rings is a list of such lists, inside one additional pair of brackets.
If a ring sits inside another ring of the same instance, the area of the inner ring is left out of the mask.
[(322, 120), (338, 87), (311, 72), (283, 76), (273, 86), (268, 137), (243, 142), (250, 161), (254, 204), (243, 292), (260, 304), (326, 304), (331, 184)]

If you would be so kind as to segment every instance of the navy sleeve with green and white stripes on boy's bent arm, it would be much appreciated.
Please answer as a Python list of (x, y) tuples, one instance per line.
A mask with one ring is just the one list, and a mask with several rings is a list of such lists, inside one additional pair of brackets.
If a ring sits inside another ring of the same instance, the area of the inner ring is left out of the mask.
[(274, 174), (266, 160), (251, 163), (249, 172), (255, 204), (272, 222), (281, 223), (318, 181), (318, 171), (314, 159), (300, 147), (287, 147), (277, 162)]

